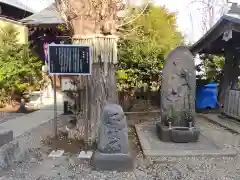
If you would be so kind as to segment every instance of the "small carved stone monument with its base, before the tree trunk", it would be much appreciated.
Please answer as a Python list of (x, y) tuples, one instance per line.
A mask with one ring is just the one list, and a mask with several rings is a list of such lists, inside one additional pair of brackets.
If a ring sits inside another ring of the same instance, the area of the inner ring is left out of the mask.
[(103, 109), (99, 142), (92, 158), (92, 165), (96, 170), (133, 169), (126, 117), (122, 107), (117, 104), (109, 104)]

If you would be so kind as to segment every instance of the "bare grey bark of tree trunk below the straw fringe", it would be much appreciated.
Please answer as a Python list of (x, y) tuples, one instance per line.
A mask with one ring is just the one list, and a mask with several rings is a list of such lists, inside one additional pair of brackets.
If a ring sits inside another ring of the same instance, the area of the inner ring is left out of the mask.
[(103, 107), (107, 103), (117, 103), (116, 81), (115, 81), (115, 69), (114, 66), (109, 66), (109, 72), (107, 76), (104, 75), (100, 64), (93, 64), (92, 75), (88, 78), (88, 93), (89, 93), (89, 108), (88, 119), (90, 120), (89, 132), (91, 139), (95, 140), (99, 120)]

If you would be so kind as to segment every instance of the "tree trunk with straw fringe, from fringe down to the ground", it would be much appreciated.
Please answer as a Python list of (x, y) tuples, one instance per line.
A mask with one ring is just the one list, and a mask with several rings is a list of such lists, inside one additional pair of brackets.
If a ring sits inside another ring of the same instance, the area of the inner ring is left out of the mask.
[[(85, 128), (85, 140), (93, 143), (98, 134), (99, 121), (103, 107), (107, 103), (118, 103), (115, 79), (116, 47), (115, 38), (107, 36), (93, 38), (77, 38), (75, 44), (87, 44), (92, 47), (92, 73), (81, 76), (81, 88), (86, 88), (80, 106), (85, 111), (84, 118), (78, 122), (79, 127)], [(86, 98), (85, 98), (86, 97)], [(86, 131), (88, 126), (88, 131)], [(87, 137), (88, 136), (88, 137)], [(87, 139), (86, 139), (87, 138)]]

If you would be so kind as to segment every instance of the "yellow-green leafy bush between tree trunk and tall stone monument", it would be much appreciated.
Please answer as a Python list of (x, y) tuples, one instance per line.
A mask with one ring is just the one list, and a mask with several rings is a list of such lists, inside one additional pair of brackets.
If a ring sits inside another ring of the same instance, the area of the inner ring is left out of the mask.
[[(133, 13), (136, 11), (139, 8), (133, 9)], [(123, 27), (122, 33), (118, 44), (118, 89), (127, 92), (144, 86), (159, 89), (166, 55), (183, 42), (176, 15), (151, 5), (136, 21)]]

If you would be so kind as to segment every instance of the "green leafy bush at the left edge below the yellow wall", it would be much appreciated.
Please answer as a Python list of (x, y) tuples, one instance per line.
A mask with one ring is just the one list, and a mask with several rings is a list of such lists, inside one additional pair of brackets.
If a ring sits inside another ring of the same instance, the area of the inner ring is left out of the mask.
[(19, 44), (13, 26), (0, 30), (0, 89), (1, 104), (6, 104), (14, 93), (20, 96), (38, 85), (41, 61), (32, 55), (28, 45)]

